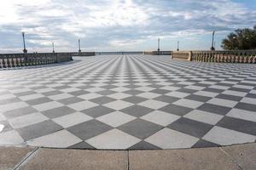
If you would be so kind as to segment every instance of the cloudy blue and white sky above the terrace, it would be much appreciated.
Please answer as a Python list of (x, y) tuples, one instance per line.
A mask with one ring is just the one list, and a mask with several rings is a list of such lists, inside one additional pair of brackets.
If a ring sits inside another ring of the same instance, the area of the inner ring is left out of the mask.
[(256, 0), (8, 0), (0, 5), (0, 53), (216, 49), (256, 25)]

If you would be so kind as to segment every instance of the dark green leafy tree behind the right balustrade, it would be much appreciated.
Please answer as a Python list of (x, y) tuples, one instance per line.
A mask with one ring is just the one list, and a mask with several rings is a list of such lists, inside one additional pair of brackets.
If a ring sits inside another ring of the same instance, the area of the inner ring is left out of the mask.
[(224, 38), (221, 47), (225, 50), (256, 49), (256, 25), (253, 29), (244, 28), (231, 32)]

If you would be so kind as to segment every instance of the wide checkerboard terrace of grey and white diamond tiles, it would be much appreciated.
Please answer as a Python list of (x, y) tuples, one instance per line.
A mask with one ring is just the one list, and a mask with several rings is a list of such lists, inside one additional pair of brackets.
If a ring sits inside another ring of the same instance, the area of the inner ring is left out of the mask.
[(0, 71), (0, 144), (174, 149), (255, 142), (256, 65), (101, 55)]

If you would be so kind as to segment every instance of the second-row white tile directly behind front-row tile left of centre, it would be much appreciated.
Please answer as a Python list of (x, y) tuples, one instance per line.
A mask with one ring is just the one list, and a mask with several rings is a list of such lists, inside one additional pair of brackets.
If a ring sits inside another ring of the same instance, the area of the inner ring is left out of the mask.
[(67, 127), (72, 127), (74, 125), (77, 125), (81, 122), (90, 121), (91, 119), (92, 117), (87, 116), (84, 113), (75, 112), (65, 116), (56, 117), (52, 119), (52, 121), (58, 123), (59, 125), (61, 125), (61, 127), (67, 128)]

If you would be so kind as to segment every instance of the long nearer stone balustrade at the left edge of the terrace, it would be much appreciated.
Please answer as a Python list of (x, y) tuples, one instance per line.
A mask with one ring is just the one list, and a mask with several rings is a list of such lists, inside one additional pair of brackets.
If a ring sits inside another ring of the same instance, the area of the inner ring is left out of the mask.
[(0, 54), (0, 68), (49, 65), (73, 60), (71, 53)]

